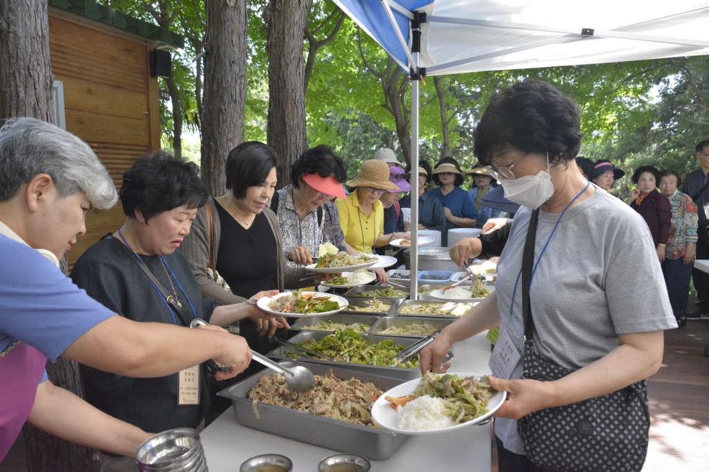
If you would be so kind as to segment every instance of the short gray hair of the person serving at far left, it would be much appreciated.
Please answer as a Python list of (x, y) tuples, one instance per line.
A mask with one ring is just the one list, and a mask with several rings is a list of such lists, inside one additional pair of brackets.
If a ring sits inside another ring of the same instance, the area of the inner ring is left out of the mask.
[(111, 175), (86, 142), (35, 118), (6, 120), (0, 128), (0, 202), (38, 174), (51, 176), (62, 197), (84, 191), (101, 209), (118, 201)]

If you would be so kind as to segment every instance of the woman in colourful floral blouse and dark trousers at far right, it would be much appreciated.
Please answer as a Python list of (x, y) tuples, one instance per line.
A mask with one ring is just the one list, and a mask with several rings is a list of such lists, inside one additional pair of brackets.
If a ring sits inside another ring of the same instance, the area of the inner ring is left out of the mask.
[(674, 171), (665, 170), (660, 174), (660, 190), (672, 206), (672, 225), (662, 272), (679, 327), (686, 325), (684, 317), (689, 298), (689, 279), (694, 262), (698, 220), (697, 206), (689, 196), (677, 190), (681, 183), (681, 179)]

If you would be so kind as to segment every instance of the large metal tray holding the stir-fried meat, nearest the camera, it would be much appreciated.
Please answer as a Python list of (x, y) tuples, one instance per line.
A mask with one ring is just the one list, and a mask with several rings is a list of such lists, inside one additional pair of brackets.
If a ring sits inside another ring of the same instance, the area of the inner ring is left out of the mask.
[[(284, 361), (281, 364), (293, 367), (303, 363)], [(341, 380), (349, 380), (354, 377), (362, 382), (372, 382), (385, 392), (403, 382), (399, 378), (378, 376), (374, 373), (356, 371), (344, 366), (308, 363), (307, 367), (314, 374), (321, 376), (333, 369), (335, 376)], [(260, 416), (260, 419), (257, 420), (253, 400), (250, 400), (249, 393), (264, 374), (272, 373), (275, 373), (272, 369), (260, 371), (218, 393), (221, 397), (231, 399), (236, 420), (240, 425), (335, 451), (359, 454), (374, 461), (389, 459), (411, 437), (408, 434), (353, 425), (345, 421), (260, 402), (256, 407)]]

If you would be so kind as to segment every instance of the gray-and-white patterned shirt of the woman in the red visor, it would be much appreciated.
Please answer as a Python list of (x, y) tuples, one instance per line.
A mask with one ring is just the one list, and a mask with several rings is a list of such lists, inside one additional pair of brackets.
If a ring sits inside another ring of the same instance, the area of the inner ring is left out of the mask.
[[(296, 213), (296, 207), (291, 196), (293, 185), (285, 186), (279, 190), (278, 203), (278, 223), (281, 225), (281, 237), (283, 237), (283, 250), (288, 265), (300, 267), (289, 259), (289, 251), (293, 246), (305, 246), (308, 251), (318, 257), (318, 248), (323, 242), (330, 242), (341, 251), (345, 249), (345, 235), (340, 228), (340, 216), (337, 207), (331, 201), (323, 204), (323, 224), (318, 224), (318, 210), (308, 212), (301, 220)], [(269, 202), (269, 207), (270, 207)]]

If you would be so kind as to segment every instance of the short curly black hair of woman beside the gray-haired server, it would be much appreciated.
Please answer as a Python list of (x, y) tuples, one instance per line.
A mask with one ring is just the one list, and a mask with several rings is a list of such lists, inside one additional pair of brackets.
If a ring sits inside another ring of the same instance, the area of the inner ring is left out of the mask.
[(141, 157), (123, 173), (119, 196), (125, 216), (135, 218), (138, 210), (147, 223), (153, 216), (179, 206), (200, 208), (207, 203), (209, 193), (194, 162), (160, 151)]

